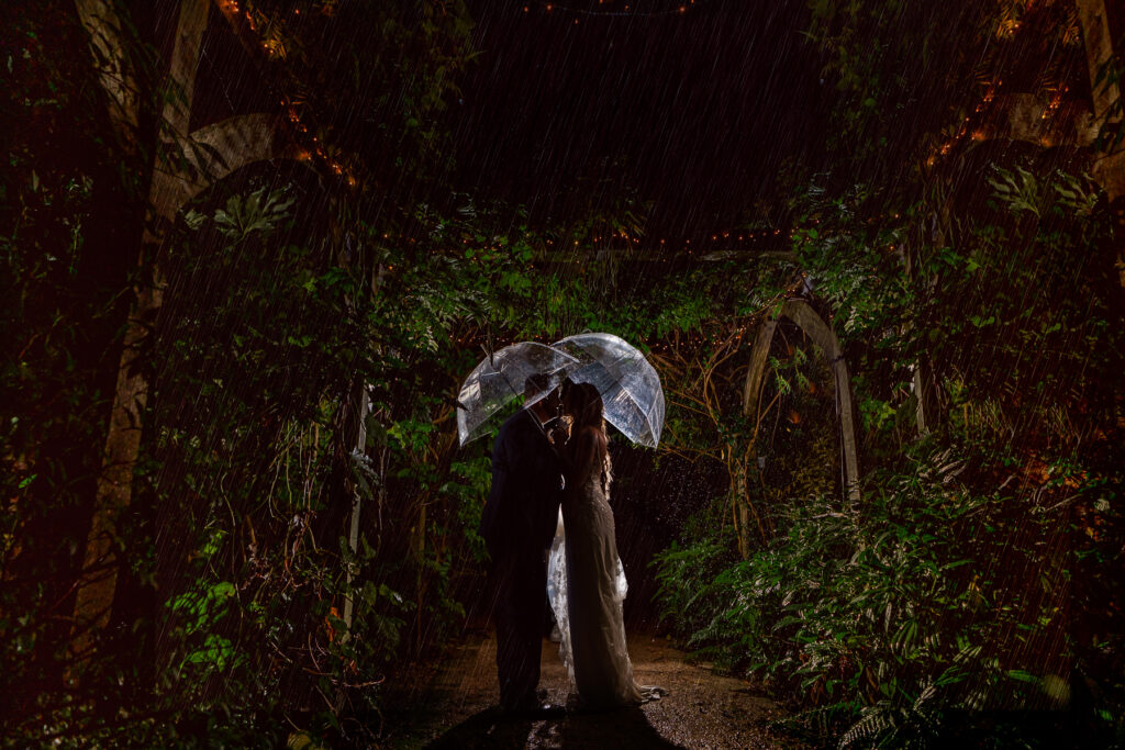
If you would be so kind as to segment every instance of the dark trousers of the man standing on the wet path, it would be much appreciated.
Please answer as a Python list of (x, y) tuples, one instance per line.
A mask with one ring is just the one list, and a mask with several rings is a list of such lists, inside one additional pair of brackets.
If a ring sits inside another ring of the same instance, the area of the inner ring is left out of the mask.
[(490, 571), (500, 703), (504, 708), (525, 708), (537, 703), (539, 686), (546, 551), (512, 551), (500, 558)]

